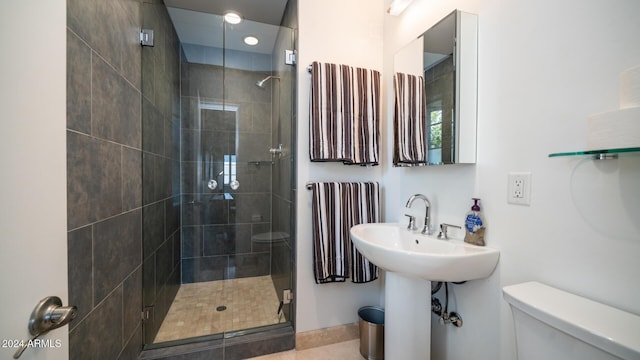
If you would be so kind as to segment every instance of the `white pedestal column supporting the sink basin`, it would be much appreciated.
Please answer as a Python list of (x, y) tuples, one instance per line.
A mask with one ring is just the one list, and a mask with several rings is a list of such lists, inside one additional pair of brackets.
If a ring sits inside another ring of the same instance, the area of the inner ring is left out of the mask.
[(431, 358), (431, 282), (385, 273), (385, 359)]

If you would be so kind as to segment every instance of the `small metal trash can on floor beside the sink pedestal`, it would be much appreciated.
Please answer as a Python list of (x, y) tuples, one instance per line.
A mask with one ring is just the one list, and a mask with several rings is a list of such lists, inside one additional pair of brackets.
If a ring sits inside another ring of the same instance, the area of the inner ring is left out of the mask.
[(368, 360), (384, 359), (384, 309), (364, 306), (360, 317), (360, 355)]

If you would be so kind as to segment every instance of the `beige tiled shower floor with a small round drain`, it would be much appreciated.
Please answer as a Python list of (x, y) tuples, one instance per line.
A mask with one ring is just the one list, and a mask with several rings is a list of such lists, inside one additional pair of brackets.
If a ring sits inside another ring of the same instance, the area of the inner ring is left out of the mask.
[(277, 324), (278, 305), (270, 276), (183, 284), (154, 342)]

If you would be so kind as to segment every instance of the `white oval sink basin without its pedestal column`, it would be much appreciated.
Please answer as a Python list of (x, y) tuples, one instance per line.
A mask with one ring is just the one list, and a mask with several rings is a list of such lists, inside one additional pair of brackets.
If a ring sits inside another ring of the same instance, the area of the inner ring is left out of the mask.
[(429, 281), (486, 278), (500, 257), (496, 249), (422, 235), (399, 223), (356, 225), (351, 228), (351, 240), (378, 267)]

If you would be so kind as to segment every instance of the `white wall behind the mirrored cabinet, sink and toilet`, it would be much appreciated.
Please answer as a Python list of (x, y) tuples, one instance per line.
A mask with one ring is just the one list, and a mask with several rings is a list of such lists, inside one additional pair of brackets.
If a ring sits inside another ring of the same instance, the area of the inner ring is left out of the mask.
[[(415, 192), (431, 200), (434, 223), (461, 224), (470, 198), (482, 198), (488, 246), (501, 251), (489, 279), (454, 285), (464, 326), (434, 325), (433, 359), (515, 358), (501, 288), (518, 282), (640, 314), (640, 157), (547, 157), (582, 149), (587, 116), (618, 107), (620, 72), (640, 64), (640, 2), (415, 0), (401, 17), (385, 16), (387, 89), (393, 54), (456, 8), (479, 16), (477, 164), (392, 168), (387, 123), (382, 180), (391, 221)], [(507, 204), (510, 171), (532, 172), (531, 206)]]

